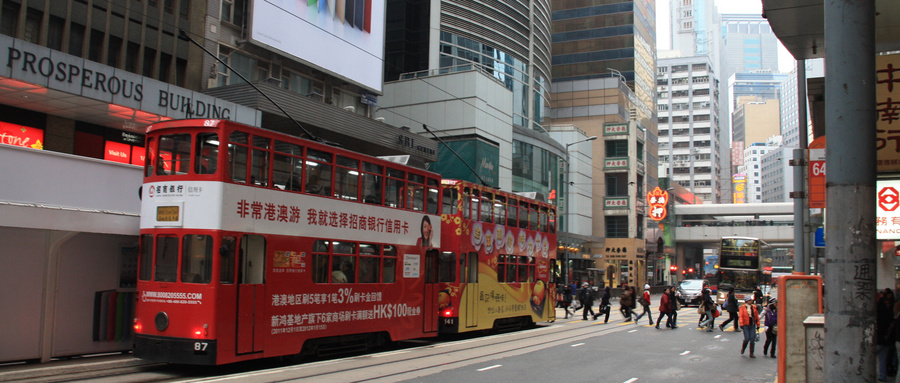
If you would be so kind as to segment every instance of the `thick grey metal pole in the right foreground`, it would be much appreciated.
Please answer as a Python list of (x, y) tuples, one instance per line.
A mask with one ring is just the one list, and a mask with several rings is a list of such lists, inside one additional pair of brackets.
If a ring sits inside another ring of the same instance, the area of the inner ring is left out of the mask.
[(874, 382), (875, 2), (825, 2), (825, 382)]

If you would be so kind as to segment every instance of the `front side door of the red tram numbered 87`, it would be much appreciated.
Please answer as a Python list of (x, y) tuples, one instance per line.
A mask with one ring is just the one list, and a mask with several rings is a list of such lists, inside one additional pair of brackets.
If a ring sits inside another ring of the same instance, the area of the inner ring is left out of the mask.
[(247, 354), (263, 349), (266, 239), (261, 235), (245, 235), (240, 250), (236, 347), (238, 354)]

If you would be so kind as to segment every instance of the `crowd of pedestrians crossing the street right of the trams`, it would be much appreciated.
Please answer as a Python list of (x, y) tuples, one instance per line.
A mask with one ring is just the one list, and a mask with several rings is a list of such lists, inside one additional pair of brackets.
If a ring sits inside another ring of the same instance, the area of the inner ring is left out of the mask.
[[(580, 289), (577, 288), (577, 286), (578, 285), (575, 283), (568, 286), (561, 285), (557, 291), (557, 307), (562, 308), (565, 311), (565, 318), (568, 319), (570, 315), (574, 317), (577, 310), (580, 309), (582, 310), (583, 320), (588, 320), (588, 317), (591, 317), (592, 320), (597, 320), (597, 318), (604, 316), (603, 323), (608, 323), (611, 311), (611, 289), (609, 286), (606, 286), (602, 290), (600, 295), (600, 305), (596, 313), (593, 310), (595, 293), (590, 284), (584, 282)], [(889, 321), (893, 320), (895, 317), (892, 316), (894, 313), (893, 296), (891, 296), (890, 299), (890, 307), (892, 310), (887, 316)], [(718, 327), (720, 331), (725, 331), (728, 325), (731, 324), (735, 332), (743, 332), (744, 338), (741, 343), (740, 354), (745, 355), (749, 348), (750, 358), (756, 358), (756, 342), (760, 341), (759, 330), (760, 328), (765, 327), (766, 340), (763, 345), (763, 356), (775, 358), (778, 336), (777, 305), (774, 299), (766, 303), (765, 306), (762, 304), (762, 294), (759, 290), (752, 295), (748, 294), (741, 304), (734, 294), (734, 288), (729, 288), (725, 302), (720, 307), (716, 303), (712, 291), (709, 288), (706, 288), (702, 292), (702, 299), (697, 308), (697, 312), (700, 314), (697, 326), (701, 329), (705, 329), (707, 332), (713, 332), (716, 327)], [(637, 305), (641, 306), (642, 312), (640, 314), (637, 314), (636, 312)], [(622, 314), (624, 322), (634, 322), (634, 324), (638, 324), (639, 321), (646, 316), (649, 324), (651, 326), (655, 325), (654, 327), (656, 329), (660, 329), (661, 326), (665, 326), (665, 328), (672, 330), (678, 328), (678, 311), (681, 310), (681, 299), (677, 287), (666, 287), (659, 299), (659, 314), (656, 317), (655, 322), (653, 320), (651, 305), (650, 285), (644, 285), (643, 292), (640, 295), (636, 293), (636, 289), (633, 286), (622, 286), (622, 292), (619, 295), (619, 312)], [(887, 306), (887, 303), (885, 303), (885, 306)], [(900, 303), (897, 304), (897, 307), (898, 310), (900, 310)], [(716, 318), (724, 313), (728, 313), (728, 319), (716, 326)], [(898, 331), (893, 332), (892, 329), (891, 335), (897, 334), (897, 340), (900, 342), (900, 321), (898, 321), (897, 326)], [(891, 338), (891, 340), (893, 340), (893, 338)], [(894, 360), (897, 359), (896, 349), (893, 353), (889, 353), (887, 347), (885, 347), (885, 360), (889, 359), (889, 354), (892, 355), (891, 358), (894, 358)], [(881, 355), (882, 352), (881, 349), (879, 349), (879, 360), (881, 360)]]

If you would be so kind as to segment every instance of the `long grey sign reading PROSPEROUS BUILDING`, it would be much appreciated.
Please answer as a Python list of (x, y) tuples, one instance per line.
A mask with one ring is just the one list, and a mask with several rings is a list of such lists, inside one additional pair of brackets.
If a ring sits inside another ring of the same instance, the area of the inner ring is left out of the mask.
[(2, 77), (152, 114), (139, 122), (218, 118), (260, 126), (255, 109), (9, 36), (0, 36), (0, 63)]

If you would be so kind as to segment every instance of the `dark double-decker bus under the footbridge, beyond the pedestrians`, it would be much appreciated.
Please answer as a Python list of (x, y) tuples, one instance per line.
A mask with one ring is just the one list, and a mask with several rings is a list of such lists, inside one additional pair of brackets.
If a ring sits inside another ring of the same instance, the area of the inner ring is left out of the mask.
[(725, 302), (728, 289), (734, 287), (735, 296), (742, 301), (745, 294), (753, 294), (765, 282), (763, 267), (772, 247), (759, 238), (722, 237), (719, 245), (718, 301)]

